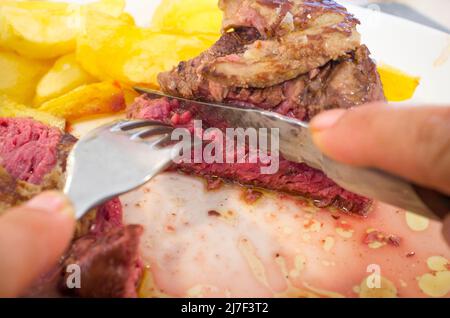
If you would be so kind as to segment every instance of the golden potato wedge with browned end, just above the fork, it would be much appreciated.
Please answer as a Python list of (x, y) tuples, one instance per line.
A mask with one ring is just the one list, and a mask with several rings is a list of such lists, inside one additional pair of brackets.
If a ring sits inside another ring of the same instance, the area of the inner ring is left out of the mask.
[(51, 99), (38, 110), (74, 121), (98, 114), (110, 114), (125, 109), (122, 87), (113, 82), (83, 85), (69, 93)]

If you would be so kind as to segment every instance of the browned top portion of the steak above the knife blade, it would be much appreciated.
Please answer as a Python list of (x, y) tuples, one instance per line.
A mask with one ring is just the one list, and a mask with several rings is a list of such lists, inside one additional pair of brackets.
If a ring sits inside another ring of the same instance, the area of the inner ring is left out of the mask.
[[(370, 52), (359, 43), (358, 21), (334, 1), (223, 0), (221, 8), (224, 28), (234, 29), (198, 57), (161, 73), (164, 92), (304, 120), (324, 109), (385, 99)], [(280, 30), (279, 16), (289, 14), (294, 28)]]

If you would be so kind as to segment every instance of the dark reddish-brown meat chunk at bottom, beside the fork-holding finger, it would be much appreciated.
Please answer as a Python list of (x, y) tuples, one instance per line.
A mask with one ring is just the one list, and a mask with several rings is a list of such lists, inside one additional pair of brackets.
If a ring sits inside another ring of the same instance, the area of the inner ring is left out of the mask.
[[(60, 280), (64, 294), (77, 297), (137, 297), (142, 274), (139, 225), (113, 227), (101, 235), (85, 235), (75, 241), (63, 268), (76, 264), (81, 269), (81, 288), (69, 289), (70, 272)], [(64, 271), (63, 271), (64, 273)]]

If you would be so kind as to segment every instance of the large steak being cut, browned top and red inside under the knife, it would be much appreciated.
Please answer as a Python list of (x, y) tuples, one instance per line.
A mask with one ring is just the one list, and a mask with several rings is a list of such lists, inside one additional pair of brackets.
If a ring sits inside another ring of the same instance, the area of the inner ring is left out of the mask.
[[(164, 92), (262, 108), (304, 121), (327, 109), (385, 100), (370, 52), (359, 42), (359, 21), (334, 1), (221, 0), (220, 7), (222, 37), (198, 57), (161, 73), (158, 80)], [(129, 116), (187, 127), (185, 121), (196, 117), (207, 126), (227, 127), (214, 114), (164, 99), (138, 98)], [(319, 206), (362, 215), (370, 206), (370, 200), (345, 191), (321, 171), (283, 158), (275, 175), (260, 175), (259, 164), (176, 168), (305, 195)]]

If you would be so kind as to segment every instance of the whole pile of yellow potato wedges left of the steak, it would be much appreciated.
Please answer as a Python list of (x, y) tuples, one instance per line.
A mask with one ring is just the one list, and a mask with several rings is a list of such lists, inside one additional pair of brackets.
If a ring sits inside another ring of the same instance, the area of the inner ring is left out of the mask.
[(0, 0), (0, 116), (64, 129), (123, 111), (133, 85), (157, 88), (159, 72), (220, 35), (217, 0), (163, 0), (148, 28), (124, 7), (124, 0)]

